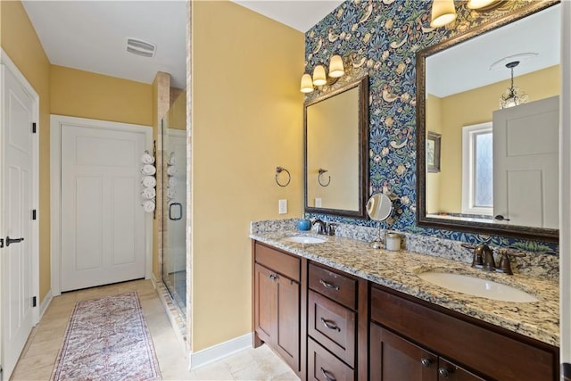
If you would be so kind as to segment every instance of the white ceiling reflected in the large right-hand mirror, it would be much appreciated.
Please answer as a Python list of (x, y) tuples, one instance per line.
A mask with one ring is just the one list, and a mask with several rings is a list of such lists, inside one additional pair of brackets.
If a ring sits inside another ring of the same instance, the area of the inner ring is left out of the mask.
[(430, 56), (426, 60), (426, 92), (443, 97), (509, 79), (505, 63), (518, 59), (490, 67), (517, 54), (537, 55), (519, 59), (514, 77), (559, 64), (560, 14), (560, 5), (554, 5)]

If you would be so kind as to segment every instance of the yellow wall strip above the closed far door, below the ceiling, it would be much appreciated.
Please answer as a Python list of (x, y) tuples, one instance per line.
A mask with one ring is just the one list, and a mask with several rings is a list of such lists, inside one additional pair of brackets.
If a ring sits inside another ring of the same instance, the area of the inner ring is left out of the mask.
[(153, 125), (152, 85), (52, 65), (51, 112)]

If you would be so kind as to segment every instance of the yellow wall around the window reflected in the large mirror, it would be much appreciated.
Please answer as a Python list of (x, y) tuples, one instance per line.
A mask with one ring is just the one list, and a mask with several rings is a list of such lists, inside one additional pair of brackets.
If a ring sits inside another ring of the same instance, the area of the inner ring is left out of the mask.
[[(514, 82), (529, 95), (529, 102), (559, 95), (559, 65), (517, 77)], [(507, 87), (509, 80), (441, 99), (443, 136), (438, 211), (460, 212), (462, 209), (462, 126), (492, 121), (492, 112), (499, 109), (500, 95)], [(432, 108), (426, 110), (427, 123), (432, 118), (430, 110)], [(426, 127), (434, 128), (429, 124)]]

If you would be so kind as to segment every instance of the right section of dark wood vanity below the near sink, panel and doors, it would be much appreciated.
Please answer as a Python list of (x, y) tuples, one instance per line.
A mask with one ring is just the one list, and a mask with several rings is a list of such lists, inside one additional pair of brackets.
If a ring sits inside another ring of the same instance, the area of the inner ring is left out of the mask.
[(371, 287), (371, 380), (556, 381), (558, 348)]

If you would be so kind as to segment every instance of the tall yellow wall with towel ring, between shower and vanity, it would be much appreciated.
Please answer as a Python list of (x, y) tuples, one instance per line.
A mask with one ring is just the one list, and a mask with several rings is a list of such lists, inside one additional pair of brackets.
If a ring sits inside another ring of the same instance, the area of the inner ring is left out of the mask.
[[(190, 320), (200, 351), (252, 332), (250, 221), (302, 215), (304, 37), (228, 1), (194, 2), (192, 26)], [(277, 166), (289, 186), (277, 186)]]

